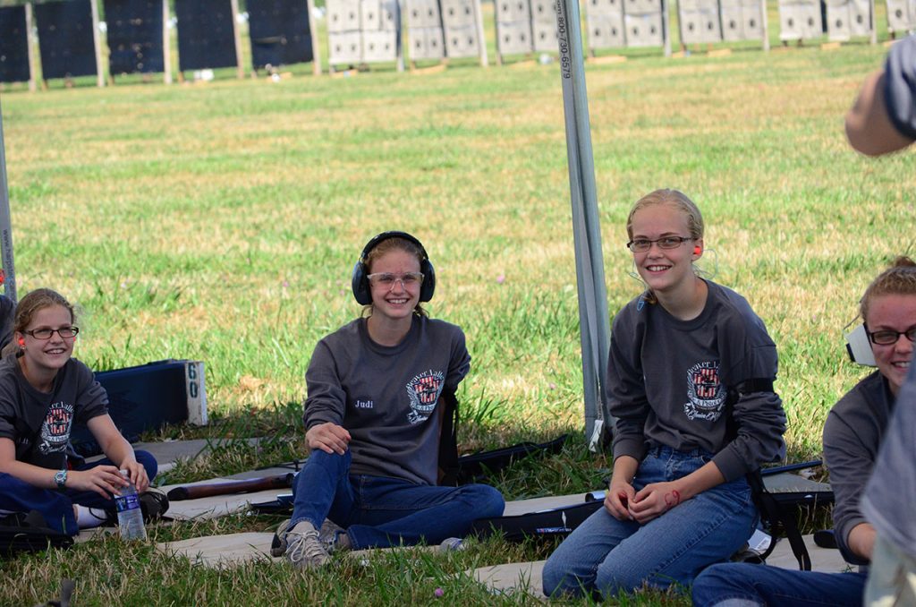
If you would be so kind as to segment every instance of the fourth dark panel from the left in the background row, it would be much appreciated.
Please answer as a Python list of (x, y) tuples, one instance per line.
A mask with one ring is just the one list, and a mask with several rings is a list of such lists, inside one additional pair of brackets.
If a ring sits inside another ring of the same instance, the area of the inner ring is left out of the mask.
[(179, 69), (234, 67), (235, 34), (229, 0), (175, 0)]

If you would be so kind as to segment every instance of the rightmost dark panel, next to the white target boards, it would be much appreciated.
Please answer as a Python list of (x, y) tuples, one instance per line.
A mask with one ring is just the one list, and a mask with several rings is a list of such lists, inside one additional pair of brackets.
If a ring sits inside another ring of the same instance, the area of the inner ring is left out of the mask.
[(289, 65), (312, 61), (309, 7), (303, 0), (248, 0), (251, 63)]

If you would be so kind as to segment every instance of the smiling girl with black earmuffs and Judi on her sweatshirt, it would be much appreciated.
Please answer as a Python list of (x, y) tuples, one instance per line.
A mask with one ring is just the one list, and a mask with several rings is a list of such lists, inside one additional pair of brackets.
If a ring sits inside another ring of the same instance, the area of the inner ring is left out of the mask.
[[(420, 306), (435, 285), (404, 232), (374, 237), (356, 262), (365, 314), (318, 343), (305, 375), (311, 454), (272, 549), (296, 568), (322, 566), (333, 549), (440, 543), (503, 512), (492, 487), (437, 485), (446, 405), (471, 357), (461, 328)], [(326, 519), (342, 528), (322, 530)]]

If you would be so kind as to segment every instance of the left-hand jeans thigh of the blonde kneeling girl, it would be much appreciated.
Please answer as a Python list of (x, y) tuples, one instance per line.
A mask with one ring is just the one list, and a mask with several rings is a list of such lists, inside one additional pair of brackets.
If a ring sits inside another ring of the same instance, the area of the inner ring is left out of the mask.
[(542, 573), (544, 594), (591, 594), (598, 566), (638, 529), (638, 523), (618, 521), (605, 508), (593, 513), (547, 559)]

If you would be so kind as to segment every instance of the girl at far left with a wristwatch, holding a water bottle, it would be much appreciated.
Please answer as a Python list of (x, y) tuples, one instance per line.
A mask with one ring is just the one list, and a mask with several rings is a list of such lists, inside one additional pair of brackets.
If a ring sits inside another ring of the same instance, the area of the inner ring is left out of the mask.
[[(0, 515), (37, 510), (51, 529), (69, 535), (114, 520), (113, 495), (128, 485), (119, 470), (141, 492), (157, 471), (156, 459), (135, 452), (115, 427), (93, 371), (71, 358), (74, 322), (60, 293), (28, 293), (0, 360)], [(89, 427), (104, 459), (87, 465), (76, 455), (74, 423)], [(141, 503), (152, 507), (143, 496)]]

